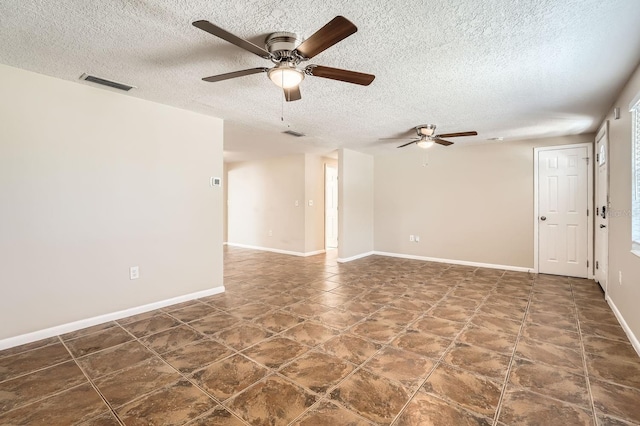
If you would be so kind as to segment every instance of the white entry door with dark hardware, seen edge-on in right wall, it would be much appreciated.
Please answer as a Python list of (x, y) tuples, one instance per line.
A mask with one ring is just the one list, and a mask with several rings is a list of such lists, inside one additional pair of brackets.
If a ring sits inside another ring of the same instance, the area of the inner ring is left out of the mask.
[(609, 270), (609, 122), (605, 122), (596, 136), (596, 217), (595, 271), (600, 287), (607, 291)]

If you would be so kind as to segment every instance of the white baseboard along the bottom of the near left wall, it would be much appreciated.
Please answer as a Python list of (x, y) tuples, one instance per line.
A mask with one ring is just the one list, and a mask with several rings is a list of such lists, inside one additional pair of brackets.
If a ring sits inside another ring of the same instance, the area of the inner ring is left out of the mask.
[(165, 306), (175, 305), (177, 303), (187, 302), (201, 297), (213, 296), (214, 294), (223, 293), (224, 286), (210, 288), (208, 290), (198, 291), (195, 293), (185, 294), (183, 296), (172, 297), (171, 299), (161, 300), (159, 302), (149, 303), (135, 308), (124, 309), (122, 311), (112, 312), (109, 314), (98, 315), (97, 317), (86, 318), (67, 324), (57, 325), (55, 327), (45, 328), (44, 330), (34, 331), (32, 333), (21, 334), (20, 336), (9, 337), (0, 340), (0, 350), (12, 348), (14, 346), (24, 345), (26, 343), (35, 342), (37, 340), (47, 339), (49, 337), (59, 336), (72, 331), (80, 330), (94, 325), (102, 324), (109, 321), (115, 321), (121, 318), (130, 317), (132, 315), (141, 314), (155, 309), (164, 308)]

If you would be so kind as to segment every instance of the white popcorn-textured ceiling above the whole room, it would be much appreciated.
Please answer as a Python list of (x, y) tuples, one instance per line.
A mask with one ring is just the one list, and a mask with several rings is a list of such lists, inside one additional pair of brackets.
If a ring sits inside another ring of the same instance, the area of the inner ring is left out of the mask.
[[(201, 81), (270, 62), (194, 20), (262, 46), (336, 15), (358, 32), (309, 63), (375, 74), (368, 87), (307, 77), (302, 100), (284, 103), (265, 74)], [(425, 123), (478, 131), (458, 146), (594, 131), (640, 60), (638, 16), (638, 0), (3, 0), (0, 63), (72, 81), (86, 72), (138, 87), (124, 96), (221, 117), (229, 161), (392, 152), (400, 142), (377, 139)]]

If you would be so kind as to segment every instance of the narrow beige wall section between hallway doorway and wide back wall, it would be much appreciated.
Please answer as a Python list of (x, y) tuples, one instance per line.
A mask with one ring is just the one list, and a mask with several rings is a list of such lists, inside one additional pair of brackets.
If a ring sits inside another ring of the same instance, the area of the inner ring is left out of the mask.
[(373, 251), (373, 157), (341, 149), (338, 158), (338, 258)]

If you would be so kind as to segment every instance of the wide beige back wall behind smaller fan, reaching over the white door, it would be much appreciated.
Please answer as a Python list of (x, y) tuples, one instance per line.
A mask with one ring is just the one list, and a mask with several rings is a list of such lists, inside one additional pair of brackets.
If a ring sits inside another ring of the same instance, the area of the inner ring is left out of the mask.
[[(593, 139), (412, 146), (376, 156), (375, 250), (532, 268), (533, 149)], [(409, 242), (411, 234), (420, 242)]]

